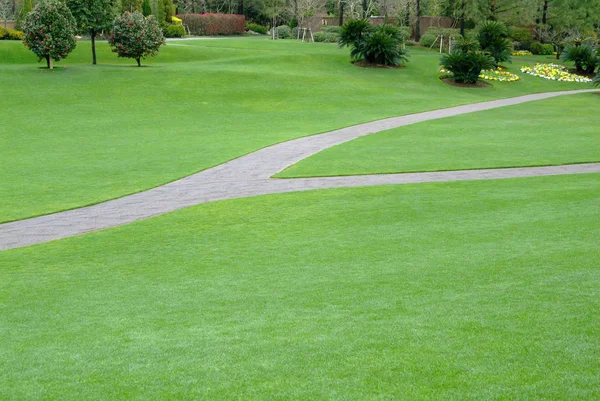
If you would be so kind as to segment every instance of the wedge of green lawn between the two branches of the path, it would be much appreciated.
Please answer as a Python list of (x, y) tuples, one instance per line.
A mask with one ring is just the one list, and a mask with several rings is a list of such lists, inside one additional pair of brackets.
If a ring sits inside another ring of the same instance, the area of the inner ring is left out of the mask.
[(599, 106), (583, 94), (427, 121), (326, 149), (277, 177), (598, 162)]

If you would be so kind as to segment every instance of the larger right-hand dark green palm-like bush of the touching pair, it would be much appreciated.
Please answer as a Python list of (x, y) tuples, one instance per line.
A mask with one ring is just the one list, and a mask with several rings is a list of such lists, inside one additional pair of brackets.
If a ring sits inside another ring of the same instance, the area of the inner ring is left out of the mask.
[(358, 43), (352, 54), (369, 64), (397, 66), (408, 61), (408, 51), (402, 49), (402, 34), (391, 25), (376, 26)]

